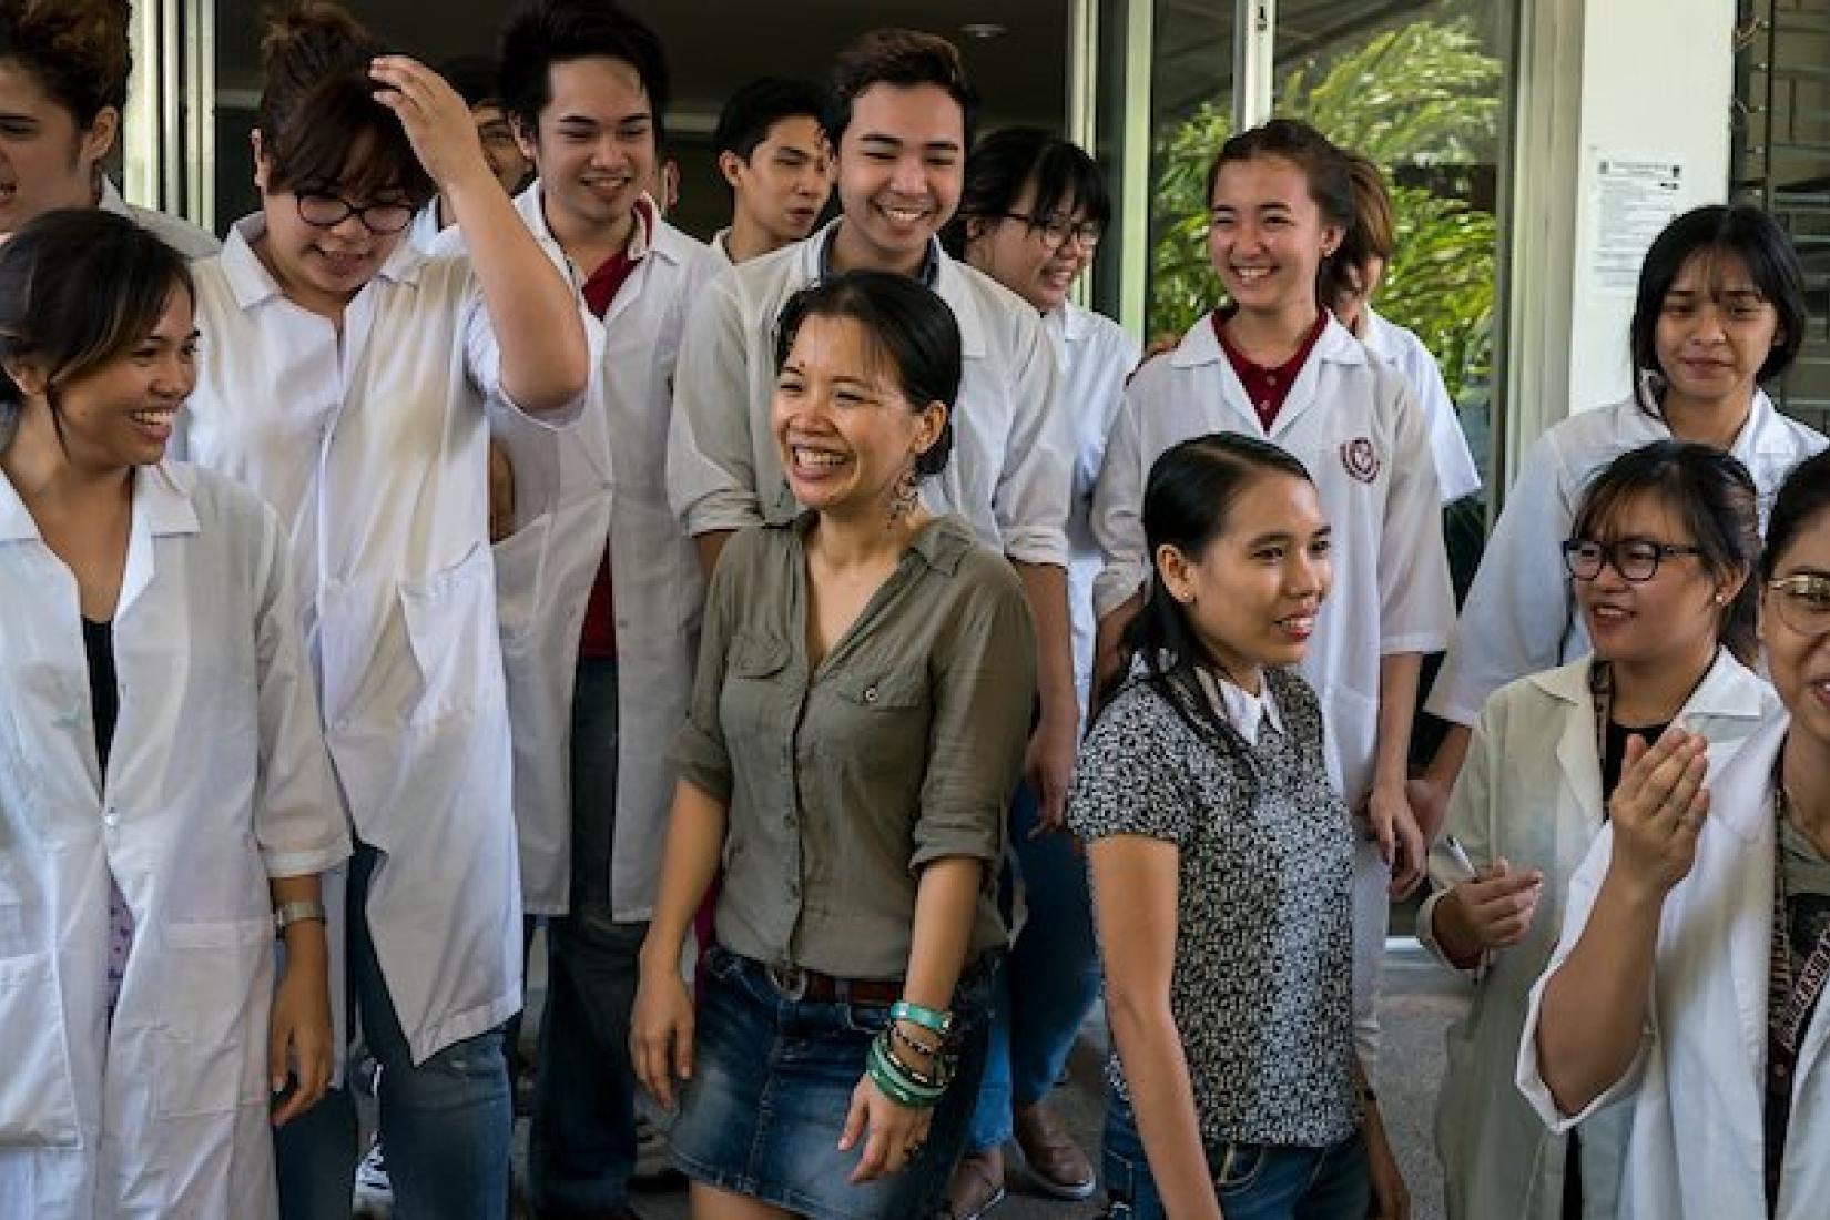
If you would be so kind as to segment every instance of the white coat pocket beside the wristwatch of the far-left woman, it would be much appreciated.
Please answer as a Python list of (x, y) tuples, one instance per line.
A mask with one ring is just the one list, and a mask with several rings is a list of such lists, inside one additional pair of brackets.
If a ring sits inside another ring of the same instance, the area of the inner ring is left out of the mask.
[(159, 1116), (225, 1114), (265, 1103), (273, 922), (165, 924), (159, 940)]

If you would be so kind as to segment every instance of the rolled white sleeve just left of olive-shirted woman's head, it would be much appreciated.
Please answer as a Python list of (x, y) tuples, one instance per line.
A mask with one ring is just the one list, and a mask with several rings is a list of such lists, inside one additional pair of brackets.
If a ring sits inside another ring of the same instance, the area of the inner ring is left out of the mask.
[(668, 421), (668, 503), (690, 536), (763, 519), (750, 435), (748, 335), (737, 271), (714, 278), (686, 316)]

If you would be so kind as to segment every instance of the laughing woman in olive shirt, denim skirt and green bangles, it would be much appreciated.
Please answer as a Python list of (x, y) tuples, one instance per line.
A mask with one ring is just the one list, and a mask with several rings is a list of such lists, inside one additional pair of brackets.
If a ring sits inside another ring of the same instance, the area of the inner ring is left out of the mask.
[[(952, 444), (944, 302), (838, 274), (791, 298), (778, 366), (805, 510), (734, 534), (706, 594), (635, 1066), (662, 1103), (684, 1079), (695, 1216), (926, 1216), (985, 1065), (1036, 640), (1010, 565), (917, 496)], [(695, 1019), (681, 946), (719, 861)]]

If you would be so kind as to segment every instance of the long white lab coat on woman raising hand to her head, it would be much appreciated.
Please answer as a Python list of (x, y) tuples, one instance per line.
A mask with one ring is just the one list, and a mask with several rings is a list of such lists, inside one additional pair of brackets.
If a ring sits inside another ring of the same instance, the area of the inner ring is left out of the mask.
[(403, 241), (339, 333), (280, 293), (249, 245), (260, 232), (260, 216), (240, 221), (192, 269), (205, 359), (183, 441), (289, 532), (326, 743), (357, 838), (384, 852), (375, 953), (423, 1063), (522, 1006), (485, 494), (500, 353), (467, 260)]

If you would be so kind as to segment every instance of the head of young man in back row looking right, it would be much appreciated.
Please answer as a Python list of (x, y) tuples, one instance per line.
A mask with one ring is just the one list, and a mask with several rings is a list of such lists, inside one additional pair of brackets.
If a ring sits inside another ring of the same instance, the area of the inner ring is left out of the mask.
[(803, 241), (833, 194), (833, 155), (818, 86), (783, 77), (750, 80), (725, 101), (712, 134), (730, 187), (730, 227), (712, 249), (732, 265)]

